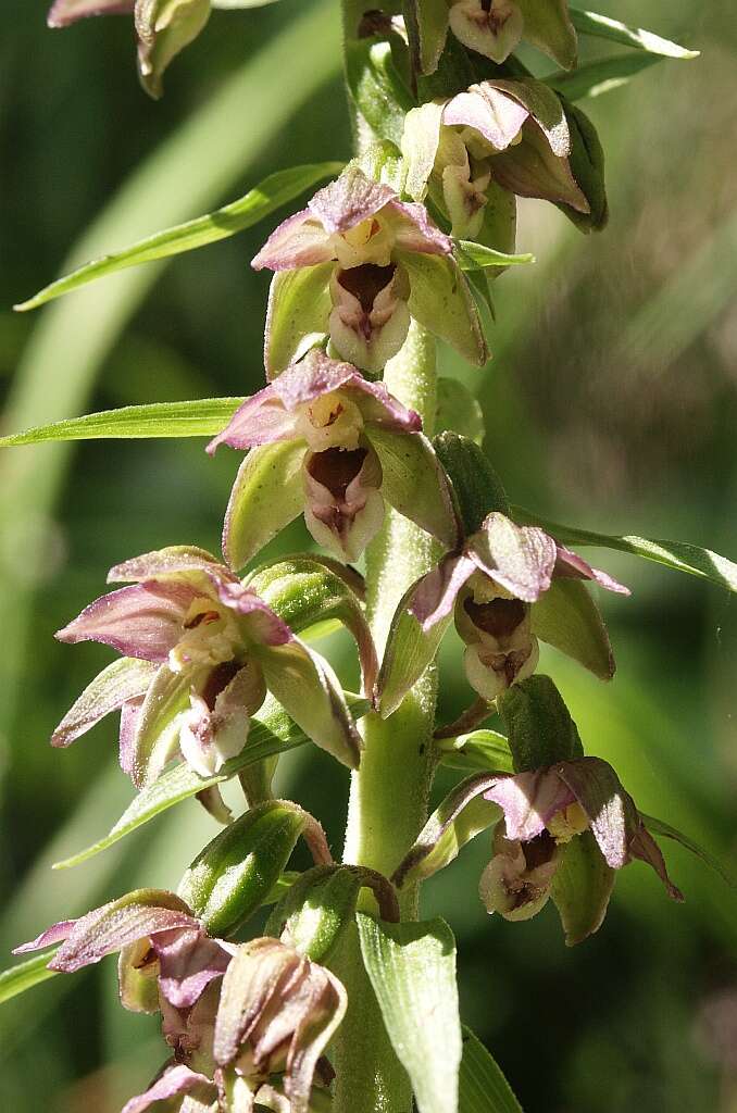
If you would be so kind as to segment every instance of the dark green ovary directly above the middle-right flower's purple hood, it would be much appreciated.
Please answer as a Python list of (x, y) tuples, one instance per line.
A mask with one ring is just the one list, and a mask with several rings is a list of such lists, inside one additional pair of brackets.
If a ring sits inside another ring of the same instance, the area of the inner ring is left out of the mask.
[(509, 516), (507, 492), (478, 444), (468, 436), (446, 432), (433, 439), (433, 447), (451, 481), (466, 536), (475, 533), (492, 511)]

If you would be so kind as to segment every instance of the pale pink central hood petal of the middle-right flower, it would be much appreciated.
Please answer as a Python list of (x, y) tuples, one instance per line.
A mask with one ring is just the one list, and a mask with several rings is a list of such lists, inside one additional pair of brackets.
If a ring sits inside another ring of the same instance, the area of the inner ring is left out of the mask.
[(525, 603), (550, 587), (556, 542), (537, 526), (519, 526), (491, 513), (469, 539), (466, 553), (480, 571)]

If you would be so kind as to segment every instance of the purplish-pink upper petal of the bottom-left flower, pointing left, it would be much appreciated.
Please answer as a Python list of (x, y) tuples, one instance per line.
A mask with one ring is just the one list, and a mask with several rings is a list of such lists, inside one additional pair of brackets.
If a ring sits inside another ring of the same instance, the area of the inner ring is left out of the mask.
[(72, 974), (157, 932), (198, 927), (187, 905), (174, 893), (137, 889), (76, 920), (49, 968)]

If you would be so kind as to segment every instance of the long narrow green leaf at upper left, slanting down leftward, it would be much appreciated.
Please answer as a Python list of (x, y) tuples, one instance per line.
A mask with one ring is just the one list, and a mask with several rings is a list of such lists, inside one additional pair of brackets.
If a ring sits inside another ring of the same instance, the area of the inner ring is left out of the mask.
[(180, 255), (183, 252), (191, 252), (196, 247), (205, 247), (206, 244), (235, 236), (236, 233), (258, 224), (279, 206), (298, 197), (315, 183), (340, 174), (343, 166), (343, 162), (316, 162), (269, 174), (237, 201), (195, 220), (187, 220), (186, 224), (178, 224), (154, 236), (147, 236), (146, 239), (139, 239), (138, 243), (120, 252), (92, 259), (91, 263), (86, 263), (63, 278), (58, 278), (50, 286), (45, 286), (33, 297), (21, 302), (14, 308), (21, 313), (26, 309), (36, 309), (55, 297), (61, 297), (62, 294), (69, 294), (89, 282), (95, 282), (96, 278), (104, 278), (125, 267), (166, 259), (171, 255)]

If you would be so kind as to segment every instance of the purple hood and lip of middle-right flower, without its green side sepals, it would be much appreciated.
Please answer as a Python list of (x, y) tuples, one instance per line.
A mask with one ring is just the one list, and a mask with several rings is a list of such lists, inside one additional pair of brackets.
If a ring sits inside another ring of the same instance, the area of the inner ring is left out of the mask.
[[(535, 604), (554, 580), (564, 579), (593, 580), (608, 591), (629, 594), (544, 530), (515, 525), (492, 512), (459, 552), (445, 555), (417, 581), (406, 607), (425, 633), (454, 614), (455, 629), (466, 644), (466, 679), (474, 691), (492, 700), (534, 671)], [(546, 628), (542, 637), (554, 643), (554, 631), (549, 634)]]

